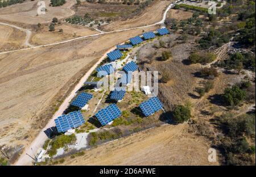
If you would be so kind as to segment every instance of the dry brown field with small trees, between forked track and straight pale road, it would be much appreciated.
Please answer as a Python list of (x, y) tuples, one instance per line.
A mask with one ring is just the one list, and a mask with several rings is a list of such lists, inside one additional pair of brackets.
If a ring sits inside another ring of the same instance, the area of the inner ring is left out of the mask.
[[(59, 32), (63, 29), (63, 32)], [(49, 31), (48, 26), (45, 26), (40, 31), (34, 33), (31, 37), (31, 43), (34, 45), (43, 45), (56, 43), (63, 40), (73, 39), (80, 36), (88, 36), (98, 33), (95, 30), (86, 27), (75, 26), (71, 24), (61, 24), (55, 26), (55, 31)]]

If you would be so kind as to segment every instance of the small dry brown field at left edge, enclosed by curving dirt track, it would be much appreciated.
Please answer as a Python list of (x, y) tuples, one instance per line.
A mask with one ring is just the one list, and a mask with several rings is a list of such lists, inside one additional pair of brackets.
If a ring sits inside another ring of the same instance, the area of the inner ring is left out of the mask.
[(0, 51), (23, 48), (26, 33), (0, 24)]

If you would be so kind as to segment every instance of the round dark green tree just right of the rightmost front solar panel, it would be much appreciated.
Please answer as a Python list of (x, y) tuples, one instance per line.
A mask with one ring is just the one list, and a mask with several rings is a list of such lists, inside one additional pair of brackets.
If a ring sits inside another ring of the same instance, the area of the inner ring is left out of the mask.
[(183, 123), (184, 121), (188, 121), (191, 117), (190, 109), (183, 105), (176, 106), (172, 114), (176, 123)]

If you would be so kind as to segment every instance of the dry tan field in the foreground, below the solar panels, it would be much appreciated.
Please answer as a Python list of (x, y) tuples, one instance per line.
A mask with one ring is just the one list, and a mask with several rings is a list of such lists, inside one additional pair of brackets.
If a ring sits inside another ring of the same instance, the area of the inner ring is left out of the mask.
[(64, 158), (61, 165), (218, 165), (208, 162), (207, 141), (188, 125), (163, 125)]

